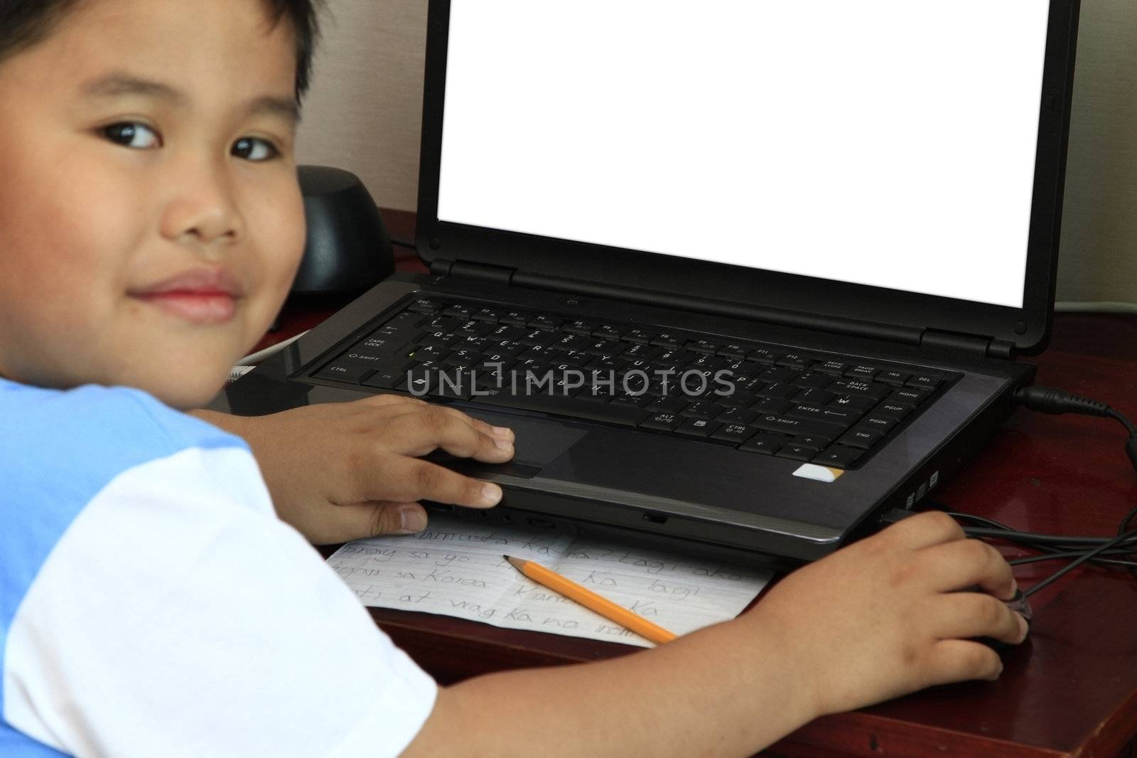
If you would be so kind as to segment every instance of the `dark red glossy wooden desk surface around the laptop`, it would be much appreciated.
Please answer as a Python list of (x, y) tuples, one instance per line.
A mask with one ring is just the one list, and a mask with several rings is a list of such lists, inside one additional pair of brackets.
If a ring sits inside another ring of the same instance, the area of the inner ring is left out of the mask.
[[(413, 236), (413, 214), (384, 212), (384, 217), (396, 236)], [(422, 270), (413, 256), (405, 256), (399, 267)], [(332, 310), (327, 304), (323, 311), (292, 306), (276, 337), (318, 323)], [(1038, 384), (1107, 402), (1137, 420), (1137, 319), (1060, 314), (1051, 347), (1036, 362)], [(1137, 504), (1137, 475), (1124, 458), (1123, 442), (1121, 426), (1112, 420), (1020, 411), (933, 496), (954, 510), (1029, 532), (1113, 534)], [(1026, 554), (1012, 547), (1005, 552)], [(1029, 586), (1060, 565), (1021, 567), (1016, 576)], [(998, 682), (937, 687), (821, 718), (769, 755), (1134, 755), (1137, 579), (1084, 568), (1031, 600), (1030, 638), (1005, 654)], [(636, 650), (442, 616), (371, 612), (396, 644), (441, 683)]]

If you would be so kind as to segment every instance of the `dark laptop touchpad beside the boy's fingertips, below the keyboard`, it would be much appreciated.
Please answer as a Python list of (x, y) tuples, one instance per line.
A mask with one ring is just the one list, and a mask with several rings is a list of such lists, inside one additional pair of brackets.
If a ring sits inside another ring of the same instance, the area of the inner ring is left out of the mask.
[(514, 459), (508, 463), (480, 463), (465, 458), (455, 458), (442, 451), (426, 456), (428, 461), (441, 463), (462, 473), (506, 473), (529, 479), (588, 434), (582, 429), (570, 429), (556, 422), (512, 413), (493, 413), (468, 406), (463, 406), (462, 412), (495, 427), (508, 427), (516, 437)]

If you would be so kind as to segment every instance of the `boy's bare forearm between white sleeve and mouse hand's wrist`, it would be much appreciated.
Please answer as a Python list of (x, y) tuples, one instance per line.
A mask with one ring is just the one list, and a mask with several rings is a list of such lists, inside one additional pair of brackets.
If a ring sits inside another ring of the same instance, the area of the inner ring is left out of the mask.
[(404, 755), (753, 755), (815, 714), (783, 642), (752, 621), (615, 660), (441, 690)]

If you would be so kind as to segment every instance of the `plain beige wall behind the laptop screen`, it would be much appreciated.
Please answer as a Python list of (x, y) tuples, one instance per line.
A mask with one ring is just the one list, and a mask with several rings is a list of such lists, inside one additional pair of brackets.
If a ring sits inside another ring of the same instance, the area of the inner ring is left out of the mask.
[[(327, 2), (299, 157), (414, 209), (426, 0)], [(1059, 298), (1137, 302), (1135, 0), (1082, 0)]]

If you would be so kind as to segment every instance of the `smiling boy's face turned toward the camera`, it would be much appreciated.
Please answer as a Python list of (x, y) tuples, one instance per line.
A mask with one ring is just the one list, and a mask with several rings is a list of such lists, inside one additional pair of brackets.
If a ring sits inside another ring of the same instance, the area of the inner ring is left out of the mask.
[(0, 63), (0, 376), (209, 399), (304, 247), (260, 0), (83, 0)]

